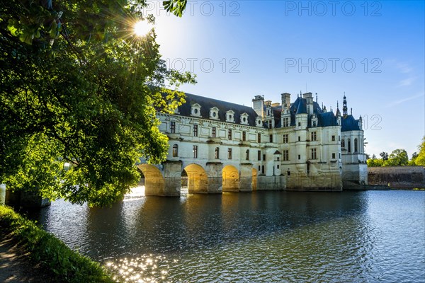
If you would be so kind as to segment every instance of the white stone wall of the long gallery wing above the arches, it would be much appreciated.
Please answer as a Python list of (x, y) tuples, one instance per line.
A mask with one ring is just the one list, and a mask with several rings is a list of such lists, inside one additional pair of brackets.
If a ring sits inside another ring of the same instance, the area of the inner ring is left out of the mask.
[[(262, 160), (265, 142), (268, 140), (267, 129), (238, 125), (236, 123), (219, 122), (200, 119), (198, 117), (182, 117), (179, 115), (158, 114), (161, 121), (159, 129), (169, 137), (170, 161), (183, 161), (183, 166), (196, 163), (205, 168), (207, 162), (222, 162), (232, 165), (239, 170), (239, 163), (252, 163), (253, 168), (258, 170), (259, 166), (266, 166)], [(176, 131), (171, 133), (170, 122), (176, 122)], [(198, 137), (193, 136), (193, 125), (198, 125)], [(216, 129), (216, 137), (212, 137), (212, 127)], [(232, 139), (229, 139), (229, 129), (232, 129)], [(246, 140), (242, 140), (242, 132), (245, 132)], [(179, 146), (178, 156), (173, 157), (173, 145)], [(198, 146), (198, 157), (193, 158), (193, 146)], [(215, 148), (219, 148), (219, 158), (215, 158)], [(228, 158), (228, 149), (232, 149), (232, 159)], [(246, 160), (246, 150), (249, 150), (249, 159)], [(258, 161), (257, 151), (261, 151), (261, 161)], [(260, 167), (261, 168), (261, 167)]]

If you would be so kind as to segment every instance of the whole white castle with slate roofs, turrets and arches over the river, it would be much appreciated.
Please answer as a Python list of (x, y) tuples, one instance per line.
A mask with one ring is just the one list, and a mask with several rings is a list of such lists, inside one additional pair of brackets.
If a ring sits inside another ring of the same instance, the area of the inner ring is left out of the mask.
[(174, 114), (157, 113), (167, 160), (140, 164), (147, 195), (253, 190), (336, 190), (368, 183), (361, 117), (327, 111), (312, 93), (255, 96), (253, 107), (186, 93)]

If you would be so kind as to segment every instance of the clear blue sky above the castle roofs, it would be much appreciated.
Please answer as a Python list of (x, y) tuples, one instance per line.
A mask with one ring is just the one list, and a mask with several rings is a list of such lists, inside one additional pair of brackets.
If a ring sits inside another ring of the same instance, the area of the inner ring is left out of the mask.
[[(425, 135), (424, 1), (189, 1), (182, 18), (151, 1), (168, 67), (193, 71), (181, 91), (251, 105), (317, 93), (365, 121), (368, 154)], [(348, 110), (350, 111), (350, 110)]]

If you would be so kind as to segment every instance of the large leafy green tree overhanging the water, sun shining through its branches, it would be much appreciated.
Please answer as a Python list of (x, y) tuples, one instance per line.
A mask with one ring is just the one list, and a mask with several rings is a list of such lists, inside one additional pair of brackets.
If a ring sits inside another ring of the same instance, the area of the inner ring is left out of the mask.
[[(165, 2), (178, 16), (186, 6)], [(169, 88), (195, 79), (166, 69), (153, 29), (133, 33), (138, 20), (154, 23), (145, 6), (1, 1), (0, 180), (9, 189), (110, 204), (137, 183), (140, 158), (164, 160), (156, 112), (173, 111), (183, 93)]]

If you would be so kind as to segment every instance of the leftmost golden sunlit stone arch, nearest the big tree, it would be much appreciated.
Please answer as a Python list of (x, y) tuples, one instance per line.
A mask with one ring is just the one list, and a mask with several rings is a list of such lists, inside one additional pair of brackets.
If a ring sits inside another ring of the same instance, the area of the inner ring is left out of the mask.
[(165, 181), (161, 171), (150, 164), (139, 164), (137, 168), (142, 171), (140, 183), (145, 185), (145, 195), (164, 195)]

